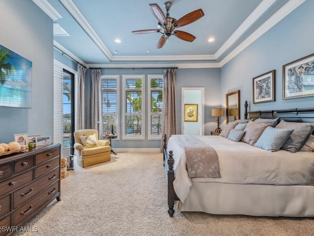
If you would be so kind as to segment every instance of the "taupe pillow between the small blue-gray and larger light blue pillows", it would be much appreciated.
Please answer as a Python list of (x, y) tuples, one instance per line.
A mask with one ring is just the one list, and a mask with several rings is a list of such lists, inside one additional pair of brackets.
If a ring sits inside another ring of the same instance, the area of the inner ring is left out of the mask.
[(267, 126), (269, 126), (269, 124), (250, 120), (244, 129), (245, 134), (243, 135), (241, 141), (254, 146)]

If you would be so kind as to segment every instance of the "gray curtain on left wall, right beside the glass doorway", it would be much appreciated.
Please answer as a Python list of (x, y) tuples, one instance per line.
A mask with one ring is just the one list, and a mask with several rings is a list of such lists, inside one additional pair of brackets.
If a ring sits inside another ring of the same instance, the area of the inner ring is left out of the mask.
[(78, 64), (78, 86), (77, 86), (77, 130), (86, 128), (85, 108), (85, 72), (86, 68)]

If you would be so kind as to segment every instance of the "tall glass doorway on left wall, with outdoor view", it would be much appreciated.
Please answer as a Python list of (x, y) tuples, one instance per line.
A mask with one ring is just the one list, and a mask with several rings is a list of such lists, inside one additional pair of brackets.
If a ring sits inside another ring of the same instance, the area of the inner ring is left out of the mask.
[(63, 110), (63, 129), (62, 147), (63, 154), (74, 155), (74, 74), (63, 69), (62, 74), (62, 110)]

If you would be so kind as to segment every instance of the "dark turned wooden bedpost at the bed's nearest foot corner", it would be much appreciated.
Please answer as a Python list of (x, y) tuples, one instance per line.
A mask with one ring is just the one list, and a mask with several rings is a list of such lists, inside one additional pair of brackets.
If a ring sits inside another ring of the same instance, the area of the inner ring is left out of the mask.
[(173, 216), (175, 213), (174, 206), (175, 206), (175, 190), (173, 188), (173, 180), (175, 180), (175, 172), (173, 170), (173, 165), (175, 163), (173, 159), (172, 151), (169, 151), (169, 158), (168, 162), (168, 214), (169, 216)]

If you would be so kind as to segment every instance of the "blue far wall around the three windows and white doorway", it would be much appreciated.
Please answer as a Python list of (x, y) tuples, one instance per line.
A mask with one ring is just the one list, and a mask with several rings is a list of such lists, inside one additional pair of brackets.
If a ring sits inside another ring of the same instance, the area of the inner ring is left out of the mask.
[[(149, 74), (163, 74), (162, 69), (103, 69), (103, 75), (120, 75), (120, 114), (122, 114), (122, 77), (123, 75), (146, 75), (145, 77), (145, 96), (147, 98), (147, 75)], [(86, 104), (90, 104), (90, 77), (91, 70), (87, 69), (85, 74), (85, 91)], [(211, 108), (220, 106), (220, 68), (207, 69), (177, 69), (177, 118), (178, 130), (181, 133), (181, 88), (182, 87), (204, 87), (205, 90), (205, 134), (209, 135), (210, 130), (216, 127), (216, 118), (210, 116)], [(147, 112), (147, 103), (146, 103)], [(90, 114), (90, 106), (86, 106), (86, 113)], [(120, 116), (120, 124), (122, 124), (122, 116)], [(147, 124), (148, 117), (145, 122)], [(90, 116), (87, 115), (87, 124), (90, 127)], [(121, 125), (122, 127), (122, 125)], [(147, 127), (147, 125), (146, 125)], [(145, 131), (146, 140), (122, 140), (122, 130), (120, 129), (120, 140), (112, 142), (113, 148), (159, 148), (159, 140), (147, 140), (148, 130)]]

